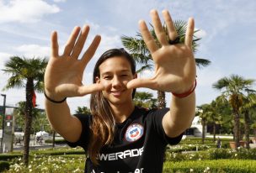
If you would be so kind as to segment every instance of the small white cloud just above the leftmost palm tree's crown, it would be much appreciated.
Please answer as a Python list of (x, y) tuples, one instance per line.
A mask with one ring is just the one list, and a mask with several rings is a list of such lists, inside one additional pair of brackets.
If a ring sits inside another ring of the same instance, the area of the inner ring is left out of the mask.
[(26, 57), (46, 57), (50, 55), (50, 48), (46, 46), (40, 46), (40, 45), (20, 45), (17, 48), (14, 48), (14, 50), (17, 50), (22, 55)]

